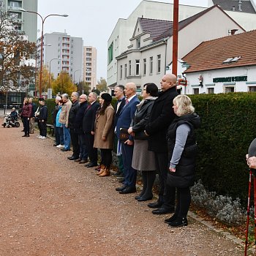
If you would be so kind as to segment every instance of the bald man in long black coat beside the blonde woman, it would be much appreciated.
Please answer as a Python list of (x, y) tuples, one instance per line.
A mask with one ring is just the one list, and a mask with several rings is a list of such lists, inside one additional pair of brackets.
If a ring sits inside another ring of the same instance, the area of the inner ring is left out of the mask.
[(154, 101), (151, 116), (145, 127), (148, 137), (148, 150), (154, 151), (157, 172), (159, 174), (159, 198), (156, 203), (148, 203), (149, 208), (156, 208), (153, 214), (168, 214), (174, 211), (175, 188), (166, 184), (168, 172), (168, 150), (166, 134), (170, 123), (175, 118), (173, 99), (178, 95), (176, 91), (176, 75), (164, 75), (161, 80), (158, 98)]

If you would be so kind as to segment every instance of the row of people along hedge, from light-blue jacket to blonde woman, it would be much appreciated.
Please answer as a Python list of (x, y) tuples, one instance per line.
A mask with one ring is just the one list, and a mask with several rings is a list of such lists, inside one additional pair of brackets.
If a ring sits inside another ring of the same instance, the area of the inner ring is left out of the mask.
[[(97, 148), (100, 148), (99, 176), (110, 175), (111, 151), (113, 141), (116, 141), (118, 166), (124, 176), (123, 186), (116, 188), (120, 194), (136, 192), (137, 171), (140, 170), (143, 190), (135, 199), (151, 200), (158, 173), (159, 197), (157, 202), (148, 203), (148, 207), (154, 208), (153, 214), (174, 212), (172, 217), (165, 219), (172, 227), (187, 225), (191, 200), (189, 187), (195, 176), (195, 129), (200, 124), (189, 97), (178, 96), (176, 80), (175, 75), (165, 75), (159, 93), (154, 83), (147, 83), (143, 88), (142, 102), (136, 95), (135, 83), (116, 86), (118, 101), (114, 108), (110, 104), (110, 94), (102, 94), (99, 103), (94, 93), (89, 94), (88, 102), (85, 94), (79, 97), (72, 93), (72, 102), (69, 103), (68, 95), (64, 94), (60, 115), (64, 105), (69, 105), (69, 113), (65, 107), (65, 114), (62, 113), (67, 117), (65, 122), (59, 117), (64, 138), (65, 129), (70, 131), (73, 146), (73, 154), (68, 157), (70, 160), (84, 163), (88, 154), (90, 162), (86, 167), (97, 166)], [(125, 140), (121, 139), (124, 129), (127, 129)], [(67, 144), (64, 139), (62, 151), (70, 150), (68, 141)]]

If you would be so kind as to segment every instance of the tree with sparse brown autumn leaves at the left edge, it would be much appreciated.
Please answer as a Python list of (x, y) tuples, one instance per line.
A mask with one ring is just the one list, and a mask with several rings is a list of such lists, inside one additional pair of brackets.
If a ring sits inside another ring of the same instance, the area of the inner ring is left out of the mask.
[(36, 45), (17, 30), (17, 21), (0, 12), (0, 91), (16, 91), (20, 85), (34, 82)]

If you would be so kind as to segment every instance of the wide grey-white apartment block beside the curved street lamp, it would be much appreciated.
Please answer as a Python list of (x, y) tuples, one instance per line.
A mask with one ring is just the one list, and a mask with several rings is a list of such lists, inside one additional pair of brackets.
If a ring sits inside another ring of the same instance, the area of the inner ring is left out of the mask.
[[(41, 37), (37, 39), (37, 56), (41, 56)], [(83, 39), (67, 33), (44, 34), (42, 39), (42, 65), (56, 78), (61, 71), (67, 72), (74, 83), (83, 74)], [(37, 67), (40, 59), (37, 59)]]

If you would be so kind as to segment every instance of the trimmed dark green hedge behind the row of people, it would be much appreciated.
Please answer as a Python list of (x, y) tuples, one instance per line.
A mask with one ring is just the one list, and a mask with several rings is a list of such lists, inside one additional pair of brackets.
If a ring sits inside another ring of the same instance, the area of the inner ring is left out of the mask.
[[(219, 195), (239, 197), (246, 203), (249, 171), (245, 161), (249, 144), (256, 137), (256, 94), (189, 95), (201, 118), (197, 130), (196, 178)], [(113, 98), (112, 104), (116, 103)], [(55, 106), (46, 101), (48, 123)]]

